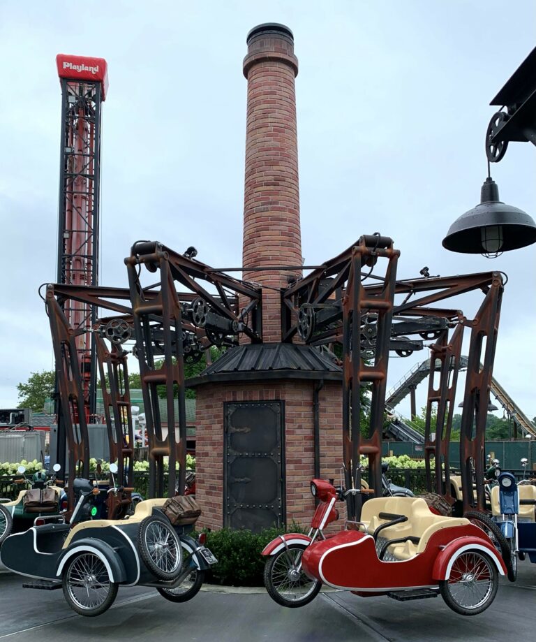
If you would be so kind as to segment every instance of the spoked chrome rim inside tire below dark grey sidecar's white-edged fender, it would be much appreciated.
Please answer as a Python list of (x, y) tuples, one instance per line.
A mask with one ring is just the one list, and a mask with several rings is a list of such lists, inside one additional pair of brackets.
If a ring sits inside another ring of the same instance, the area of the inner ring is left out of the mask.
[(91, 610), (101, 606), (110, 593), (110, 587), (104, 562), (93, 553), (79, 555), (70, 564), (67, 589), (79, 608)]

